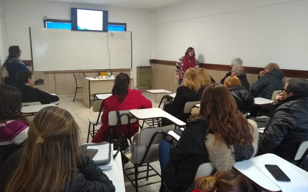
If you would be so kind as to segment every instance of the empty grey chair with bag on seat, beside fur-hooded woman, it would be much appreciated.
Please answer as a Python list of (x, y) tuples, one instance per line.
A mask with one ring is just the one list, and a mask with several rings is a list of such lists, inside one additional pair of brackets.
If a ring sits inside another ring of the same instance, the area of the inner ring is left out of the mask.
[[(161, 182), (161, 181), (156, 181), (138, 186), (138, 180), (140, 179), (146, 178), (146, 180), (148, 180), (149, 177), (153, 177), (156, 175), (160, 176), (160, 174), (150, 165), (150, 163), (159, 160), (159, 155), (158, 155), (159, 143), (162, 139), (165, 138), (168, 131), (171, 131), (173, 129), (174, 125), (168, 125), (164, 127), (146, 127), (143, 128), (140, 131), (140, 133), (137, 133), (134, 136), (134, 141), (136, 141), (136, 143), (134, 143), (134, 145), (132, 146), (132, 152), (124, 154), (128, 158), (128, 160), (132, 162), (134, 167), (129, 167), (124, 169), (123, 173), (132, 183), (132, 185), (136, 188), (136, 192), (138, 192), (139, 187)], [(147, 167), (147, 169), (139, 171), (138, 170), (139, 167)], [(135, 171), (133, 173), (125, 172), (125, 170), (130, 170), (130, 169), (134, 169)], [(151, 170), (153, 170), (155, 174), (149, 175), (149, 171)], [(138, 178), (137, 174), (143, 172), (147, 173), (146, 176)], [(135, 179), (129, 178), (129, 175), (135, 175)]]

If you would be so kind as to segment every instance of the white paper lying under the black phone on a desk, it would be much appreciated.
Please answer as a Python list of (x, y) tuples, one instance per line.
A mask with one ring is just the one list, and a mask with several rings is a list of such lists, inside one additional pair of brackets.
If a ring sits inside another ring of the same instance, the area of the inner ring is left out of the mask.
[(256, 167), (267, 178), (274, 182), (282, 192), (307, 192), (308, 191), (308, 179), (294, 170), (288, 163), (280, 163), (277, 166), (290, 178), (291, 182), (279, 182), (273, 177), (272, 174), (265, 168), (265, 165), (256, 165)]

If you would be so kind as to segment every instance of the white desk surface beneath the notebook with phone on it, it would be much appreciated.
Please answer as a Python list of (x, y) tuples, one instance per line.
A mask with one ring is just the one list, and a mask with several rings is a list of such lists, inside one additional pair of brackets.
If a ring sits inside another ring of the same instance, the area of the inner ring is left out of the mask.
[[(113, 154), (115, 154), (115, 152), (116, 151), (113, 151)], [(125, 192), (122, 159), (120, 153), (118, 153), (116, 158), (113, 159), (113, 166), (109, 169), (103, 170), (103, 173), (105, 173), (112, 181), (115, 186), (115, 192)]]

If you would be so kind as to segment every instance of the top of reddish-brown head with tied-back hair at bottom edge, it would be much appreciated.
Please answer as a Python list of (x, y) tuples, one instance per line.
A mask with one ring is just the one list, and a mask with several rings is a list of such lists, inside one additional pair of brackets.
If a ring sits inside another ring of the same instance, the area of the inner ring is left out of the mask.
[(248, 179), (235, 170), (222, 170), (214, 175), (198, 177), (195, 180), (195, 190), (193, 192), (211, 191), (254, 192)]

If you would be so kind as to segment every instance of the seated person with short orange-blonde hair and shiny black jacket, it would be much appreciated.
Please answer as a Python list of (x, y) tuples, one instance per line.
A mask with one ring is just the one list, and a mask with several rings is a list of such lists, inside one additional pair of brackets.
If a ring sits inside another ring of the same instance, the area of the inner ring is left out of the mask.
[(224, 85), (231, 92), (240, 112), (245, 114), (253, 109), (254, 98), (250, 95), (250, 92), (241, 85), (241, 81), (237, 78), (237, 76), (227, 77)]

